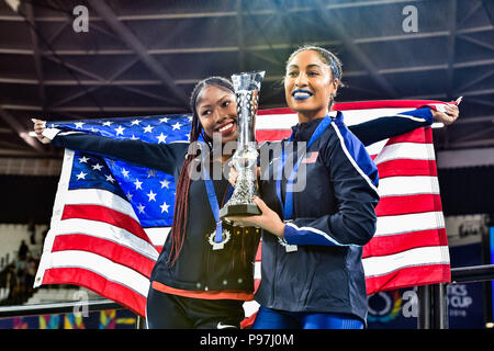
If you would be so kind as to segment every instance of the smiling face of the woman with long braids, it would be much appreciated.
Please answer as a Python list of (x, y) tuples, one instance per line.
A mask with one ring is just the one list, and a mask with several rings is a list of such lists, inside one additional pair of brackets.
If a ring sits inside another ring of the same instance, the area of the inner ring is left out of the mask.
[(222, 144), (237, 140), (237, 105), (235, 94), (218, 86), (206, 86), (195, 102), (204, 133), (213, 139), (220, 133)]

